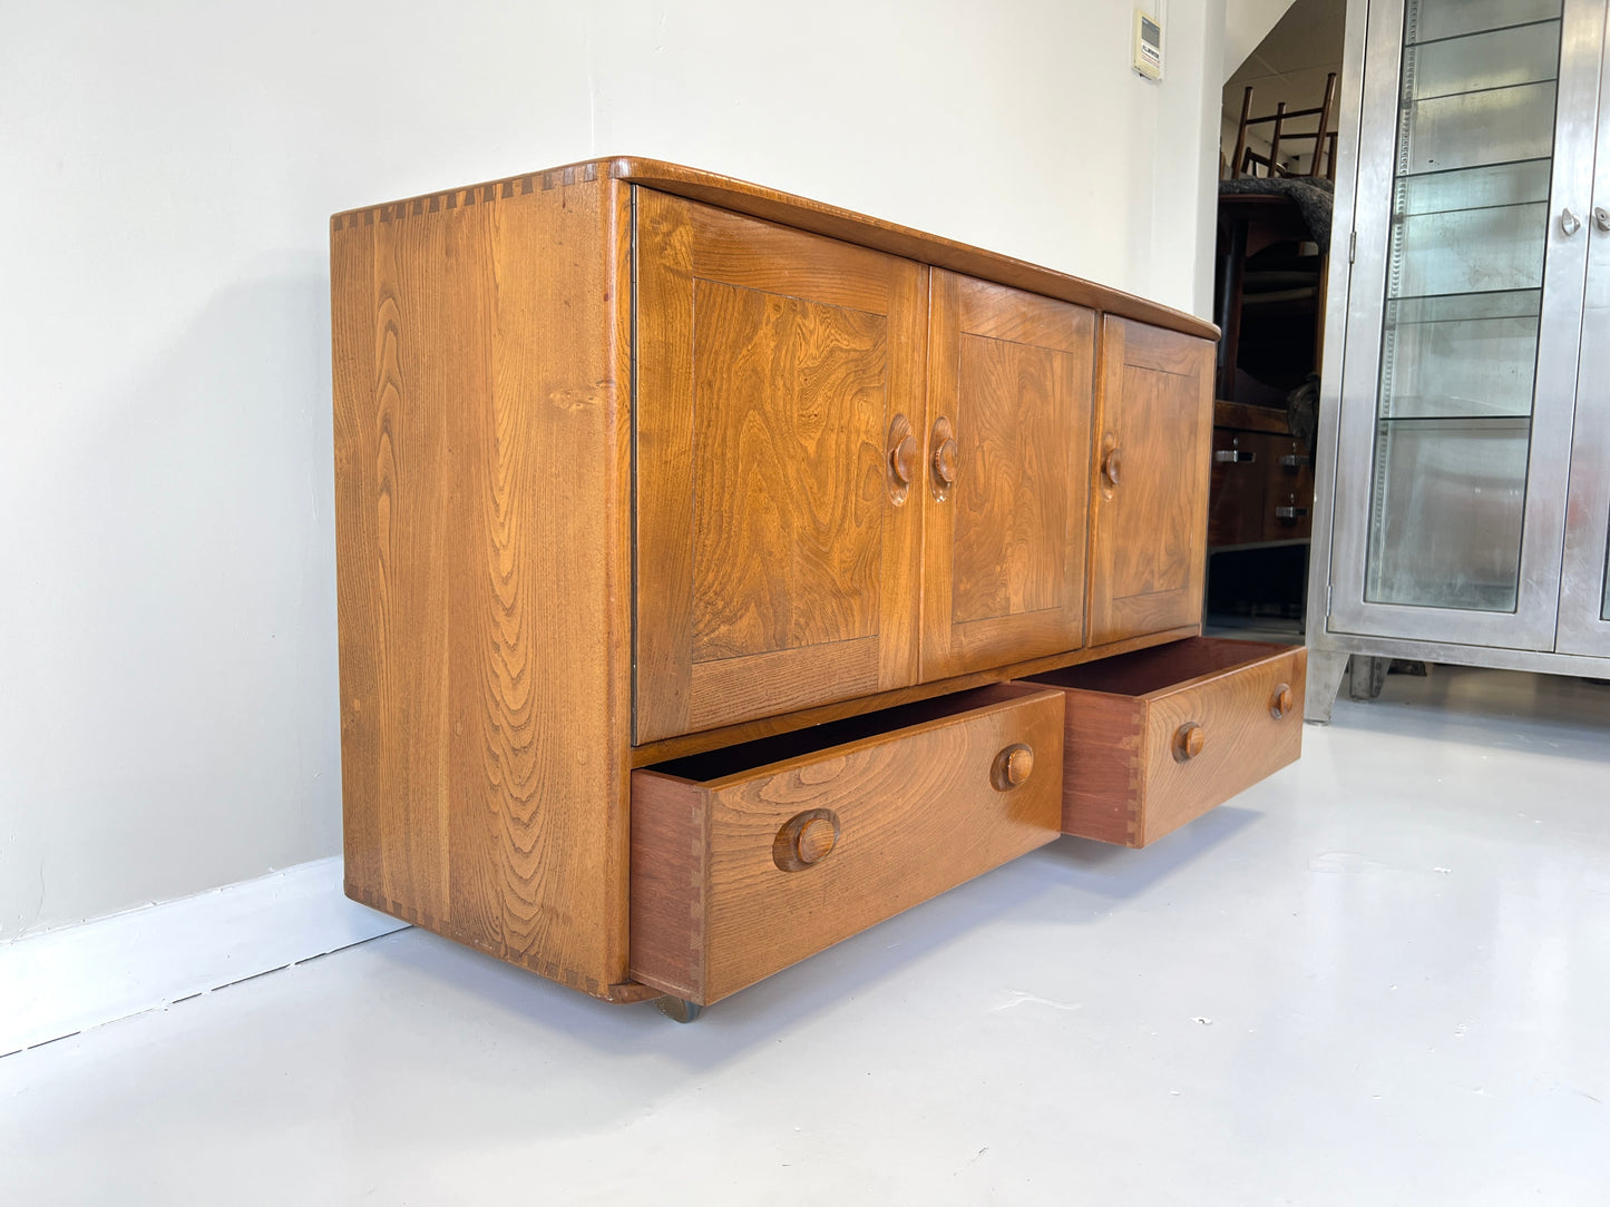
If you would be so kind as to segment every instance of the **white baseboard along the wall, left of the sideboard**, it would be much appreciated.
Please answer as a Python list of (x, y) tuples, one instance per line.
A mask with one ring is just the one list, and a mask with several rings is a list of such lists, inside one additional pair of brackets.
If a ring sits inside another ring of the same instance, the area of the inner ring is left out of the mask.
[(333, 858), (14, 938), (0, 943), (0, 1056), (406, 925), (343, 896)]

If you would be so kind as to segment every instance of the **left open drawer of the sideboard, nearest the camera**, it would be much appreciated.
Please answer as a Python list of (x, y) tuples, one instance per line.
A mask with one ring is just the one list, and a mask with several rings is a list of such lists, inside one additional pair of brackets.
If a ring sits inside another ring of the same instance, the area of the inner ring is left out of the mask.
[(1063, 694), (993, 684), (631, 774), (631, 977), (708, 1004), (1058, 837)]

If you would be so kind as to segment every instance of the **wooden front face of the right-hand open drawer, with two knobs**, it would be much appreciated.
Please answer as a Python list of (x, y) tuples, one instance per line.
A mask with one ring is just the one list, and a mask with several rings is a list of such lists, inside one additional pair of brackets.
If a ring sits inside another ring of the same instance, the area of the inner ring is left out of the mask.
[[(1307, 650), (1298, 647), (1146, 700), (1135, 845), (1161, 838), (1296, 761), (1306, 668)], [(1286, 708), (1278, 706), (1282, 690), (1290, 692)]]

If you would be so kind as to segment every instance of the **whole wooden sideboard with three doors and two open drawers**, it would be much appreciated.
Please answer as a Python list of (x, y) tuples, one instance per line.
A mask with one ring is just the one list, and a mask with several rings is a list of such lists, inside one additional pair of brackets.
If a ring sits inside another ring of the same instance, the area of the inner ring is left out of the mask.
[(1296, 758), (1201, 639), (1216, 328), (605, 159), (332, 219), (348, 893), (705, 1004)]

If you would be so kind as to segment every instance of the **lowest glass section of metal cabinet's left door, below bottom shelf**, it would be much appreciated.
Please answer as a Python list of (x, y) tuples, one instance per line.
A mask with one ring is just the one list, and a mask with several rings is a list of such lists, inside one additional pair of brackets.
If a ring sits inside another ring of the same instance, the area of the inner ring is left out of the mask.
[(1513, 612), (1531, 420), (1394, 420), (1375, 438), (1365, 599)]

